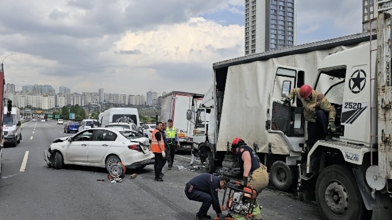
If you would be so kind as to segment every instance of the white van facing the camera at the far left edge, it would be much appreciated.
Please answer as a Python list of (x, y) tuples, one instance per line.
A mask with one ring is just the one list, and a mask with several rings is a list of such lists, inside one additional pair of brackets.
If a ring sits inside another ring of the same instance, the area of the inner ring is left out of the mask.
[(18, 108), (12, 107), (11, 115), (7, 116), (7, 107), (5, 107), (3, 117), (3, 136), (5, 143), (16, 147), (16, 144), (20, 143), (20, 140), (22, 140), (20, 111)]

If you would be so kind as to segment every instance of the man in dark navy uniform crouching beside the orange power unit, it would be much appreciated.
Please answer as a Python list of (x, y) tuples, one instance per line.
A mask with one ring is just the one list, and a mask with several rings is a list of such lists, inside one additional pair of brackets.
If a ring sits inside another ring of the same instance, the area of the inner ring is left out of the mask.
[(222, 213), (222, 210), (225, 208), (219, 204), (218, 191), (219, 189), (225, 189), (228, 182), (230, 182), (230, 179), (227, 177), (217, 177), (209, 173), (203, 173), (185, 184), (185, 195), (187, 198), (192, 201), (203, 202), (199, 212), (196, 213), (197, 220), (211, 219), (211, 216), (207, 215), (211, 204), (216, 215), (221, 220), (225, 219)]

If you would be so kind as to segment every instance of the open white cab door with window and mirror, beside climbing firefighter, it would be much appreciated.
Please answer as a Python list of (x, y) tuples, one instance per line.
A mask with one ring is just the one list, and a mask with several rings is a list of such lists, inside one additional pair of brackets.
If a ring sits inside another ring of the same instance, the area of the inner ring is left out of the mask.
[[(269, 106), (267, 106), (267, 120), (265, 126), (269, 133), (278, 133), (286, 143), (290, 152), (286, 163), (295, 166), (305, 138), (305, 119), (302, 103), (299, 99), (292, 99), (290, 106), (285, 106), (285, 99), (295, 87), (301, 87), (304, 82), (304, 70), (281, 65), (274, 66), (275, 78), (272, 78), (269, 92)], [(294, 153), (297, 152), (297, 153)]]

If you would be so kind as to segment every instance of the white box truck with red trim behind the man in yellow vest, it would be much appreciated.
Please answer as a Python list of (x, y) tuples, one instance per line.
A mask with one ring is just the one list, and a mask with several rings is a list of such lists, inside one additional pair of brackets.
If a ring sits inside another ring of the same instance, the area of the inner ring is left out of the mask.
[(192, 149), (194, 123), (187, 120), (187, 114), (191, 114), (189, 117), (194, 118), (193, 113), (197, 110), (198, 102), (203, 100), (203, 96), (173, 91), (162, 97), (161, 121), (173, 120), (173, 126), (177, 128), (178, 139), (180, 139), (181, 150)]

